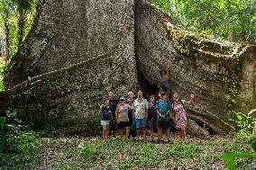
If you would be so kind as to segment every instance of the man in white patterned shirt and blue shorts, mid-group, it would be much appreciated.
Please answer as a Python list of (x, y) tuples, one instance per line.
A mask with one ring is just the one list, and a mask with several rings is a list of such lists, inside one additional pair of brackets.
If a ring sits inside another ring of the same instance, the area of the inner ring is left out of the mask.
[(143, 132), (143, 140), (146, 140), (146, 118), (148, 117), (148, 101), (142, 97), (142, 91), (138, 92), (138, 98), (133, 103), (137, 128), (137, 136)]

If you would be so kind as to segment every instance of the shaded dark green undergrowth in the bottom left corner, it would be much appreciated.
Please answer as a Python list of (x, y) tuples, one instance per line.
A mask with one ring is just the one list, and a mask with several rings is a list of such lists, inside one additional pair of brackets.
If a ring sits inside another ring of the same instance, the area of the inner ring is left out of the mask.
[[(0, 167), (3, 169), (29, 169), (38, 162), (41, 144), (38, 135), (27, 130), (15, 117), (16, 112), (6, 112), (0, 117)], [(8, 123), (12, 121), (12, 123)]]

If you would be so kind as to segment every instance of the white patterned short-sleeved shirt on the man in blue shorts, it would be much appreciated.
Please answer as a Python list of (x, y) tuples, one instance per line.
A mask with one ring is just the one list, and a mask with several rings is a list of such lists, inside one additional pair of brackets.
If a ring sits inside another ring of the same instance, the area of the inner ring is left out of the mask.
[(135, 109), (135, 119), (145, 119), (146, 110), (149, 108), (148, 101), (142, 98), (142, 101), (136, 99), (133, 103)]

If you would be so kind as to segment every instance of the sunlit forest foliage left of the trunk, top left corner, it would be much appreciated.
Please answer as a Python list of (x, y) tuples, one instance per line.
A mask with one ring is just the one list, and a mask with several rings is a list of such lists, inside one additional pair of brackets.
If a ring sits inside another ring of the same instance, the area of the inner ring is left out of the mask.
[[(41, 0), (1, 0), (0, 1), (0, 57), (5, 57), (6, 63), (13, 57), (18, 49), (19, 37), (21, 40), (27, 36), (32, 27), (32, 23), (36, 14), (36, 5)], [(5, 20), (6, 24), (5, 25)], [(21, 27), (22, 25), (22, 27)], [(8, 32), (6, 32), (6, 29)], [(22, 35), (19, 35), (22, 33)], [(8, 43), (6, 42), (8, 36)], [(7, 53), (5, 54), (5, 46)]]

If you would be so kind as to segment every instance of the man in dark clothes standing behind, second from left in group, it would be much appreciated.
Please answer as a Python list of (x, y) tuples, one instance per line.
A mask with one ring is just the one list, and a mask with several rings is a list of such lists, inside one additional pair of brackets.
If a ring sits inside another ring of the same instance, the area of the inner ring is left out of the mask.
[[(116, 110), (118, 101), (114, 99), (114, 93), (111, 91), (108, 93), (108, 100), (109, 100), (109, 106), (110, 106), (111, 112), (113, 114), (113, 118), (115, 118), (115, 110)], [(110, 123), (110, 130), (112, 131), (112, 134), (114, 136), (116, 133), (116, 121), (114, 119)]]

